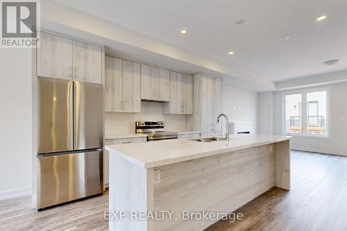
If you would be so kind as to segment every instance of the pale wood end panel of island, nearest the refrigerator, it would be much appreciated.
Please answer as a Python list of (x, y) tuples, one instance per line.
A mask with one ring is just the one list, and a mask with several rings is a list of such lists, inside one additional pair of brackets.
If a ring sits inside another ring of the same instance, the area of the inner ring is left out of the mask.
[[(151, 211), (153, 169), (143, 169), (116, 153), (110, 155), (110, 166), (110, 212)], [(130, 214), (121, 221), (109, 222), (110, 230), (153, 230), (151, 225), (151, 222), (131, 220)]]

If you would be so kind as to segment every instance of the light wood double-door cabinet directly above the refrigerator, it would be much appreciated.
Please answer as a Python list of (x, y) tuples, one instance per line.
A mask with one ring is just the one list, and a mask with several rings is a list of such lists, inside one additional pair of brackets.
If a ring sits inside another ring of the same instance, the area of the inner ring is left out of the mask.
[(103, 49), (59, 35), (39, 32), (37, 76), (102, 83)]

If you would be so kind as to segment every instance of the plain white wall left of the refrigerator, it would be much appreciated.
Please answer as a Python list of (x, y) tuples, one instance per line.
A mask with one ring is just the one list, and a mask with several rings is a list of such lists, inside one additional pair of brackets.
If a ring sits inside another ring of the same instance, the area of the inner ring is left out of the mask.
[(0, 197), (31, 190), (31, 50), (0, 49)]

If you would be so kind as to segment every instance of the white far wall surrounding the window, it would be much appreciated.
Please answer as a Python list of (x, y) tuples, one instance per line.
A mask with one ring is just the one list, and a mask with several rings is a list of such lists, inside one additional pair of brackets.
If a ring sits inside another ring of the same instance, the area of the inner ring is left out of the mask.
[[(347, 83), (326, 85), (330, 87), (329, 137), (294, 137), (291, 148), (337, 155), (347, 155)], [(282, 134), (282, 94), (273, 94), (273, 132)]]

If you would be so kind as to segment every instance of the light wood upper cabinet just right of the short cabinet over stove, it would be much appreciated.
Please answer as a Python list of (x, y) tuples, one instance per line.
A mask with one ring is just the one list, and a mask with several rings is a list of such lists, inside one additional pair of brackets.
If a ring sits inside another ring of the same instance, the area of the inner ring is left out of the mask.
[(166, 114), (193, 114), (193, 76), (170, 71), (170, 102)]

